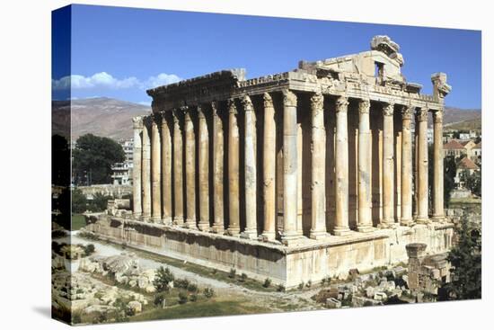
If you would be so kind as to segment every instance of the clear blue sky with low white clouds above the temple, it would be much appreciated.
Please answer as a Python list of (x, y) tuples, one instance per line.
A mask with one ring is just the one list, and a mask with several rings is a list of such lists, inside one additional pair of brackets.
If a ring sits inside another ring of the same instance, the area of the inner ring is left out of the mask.
[[(401, 46), (402, 73), (431, 93), (430, 75), (448, 75), (446, 104), (481, 108), (481, 32), (92, 5), (72, 6), (71, 79), (53, 68), (53, 97), (108, 96), (150, 103), (146, 89), (221, 69), (247, 77), (366, 51), (387, 34)], [(57, 36), (53, 34), (53, 42)]]

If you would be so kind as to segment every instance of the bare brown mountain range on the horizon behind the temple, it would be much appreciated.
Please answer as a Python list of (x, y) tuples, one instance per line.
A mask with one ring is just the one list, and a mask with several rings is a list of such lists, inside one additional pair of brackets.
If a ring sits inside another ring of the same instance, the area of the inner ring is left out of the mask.
[[(151, 111), (147, 105), (108, 97), (53, 101), (52, 108), (54, 133), (63, 133), (62, 130), (68, 127), (67, 121), (70, 120), (73, 140), (87, 133), (116, 140), (131, 138), (132, 118)], [(72, 109), (70, 117), (69, 109)], [(444, 123), (445, 129), (481, 129), (481, 110), (445, 107)]]

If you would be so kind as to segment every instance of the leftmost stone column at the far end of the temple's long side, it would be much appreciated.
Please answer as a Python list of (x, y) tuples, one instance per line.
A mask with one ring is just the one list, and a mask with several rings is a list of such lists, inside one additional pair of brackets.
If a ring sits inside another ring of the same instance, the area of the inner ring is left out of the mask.
[(142, 216), (142, 138), (143, 118), (134, 117), (134, 167), (132, 168), (132, 210), (134, 219)]

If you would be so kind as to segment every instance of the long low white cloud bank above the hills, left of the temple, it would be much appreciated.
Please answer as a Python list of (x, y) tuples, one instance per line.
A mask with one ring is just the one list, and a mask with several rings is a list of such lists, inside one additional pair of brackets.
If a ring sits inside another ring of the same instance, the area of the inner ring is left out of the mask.
[(60, 79), (52, 79), (51, 86), (54, 90), (75, 89), (127, 89), (139, 88), (148, 89), (159, 85), (168, 85), (181, 81), (181, 78), (176, 75), (168, 75), (161, 73), (157, 76), (150, 76), (145, 81), (137, 79), (135, 76), (126, 77), (123, 79), (111, 76), (106, 72), (99, 72), (93, 76), (63, 76)]

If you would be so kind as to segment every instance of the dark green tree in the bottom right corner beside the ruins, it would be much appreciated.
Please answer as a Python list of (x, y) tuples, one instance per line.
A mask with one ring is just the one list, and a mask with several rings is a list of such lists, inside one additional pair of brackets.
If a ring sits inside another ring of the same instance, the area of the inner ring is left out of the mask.
[(458, 228), (458, 244), (448, 253), (451, 281), (441, 290), (440, 300), (481, 299), (481, 232), (472, 228), (466, 217)]

